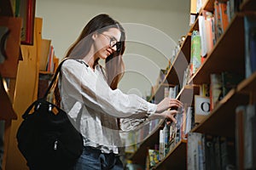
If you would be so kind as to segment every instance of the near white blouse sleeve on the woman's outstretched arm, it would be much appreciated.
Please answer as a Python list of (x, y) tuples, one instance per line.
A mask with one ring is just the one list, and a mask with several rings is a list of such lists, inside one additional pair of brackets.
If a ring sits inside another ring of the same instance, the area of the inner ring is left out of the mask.
[(142, 118), (156, 111), (151, 104), (136, 94), (112, 90), (101, 71), (67, 59), (61, 67), (61, 93), (84, 102), (84, 105), (111, 116)]

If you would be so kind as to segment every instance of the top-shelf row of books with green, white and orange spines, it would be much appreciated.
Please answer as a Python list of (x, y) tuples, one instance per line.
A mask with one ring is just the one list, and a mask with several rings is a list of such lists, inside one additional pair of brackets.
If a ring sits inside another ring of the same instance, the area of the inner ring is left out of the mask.
[(212, 51), (218, 38), (230, 25), (231, 19), (237, 11), (240, 1), (228, 0), (214, 1), (214, 11), (202, 11), (198, 16), (199, 29), (192, 31), (190, 69), (192, 75), (206, 59), (207, 54)]

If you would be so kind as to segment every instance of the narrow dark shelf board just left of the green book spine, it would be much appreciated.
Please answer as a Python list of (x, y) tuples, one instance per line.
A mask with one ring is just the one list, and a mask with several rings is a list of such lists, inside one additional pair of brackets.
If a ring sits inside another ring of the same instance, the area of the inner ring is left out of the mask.
[(189, 65), (191, 36), (188, 34), (183, 45), (173, 62), (172, 67), (166, 74), (166, 82), (169, 84), (182, 84), (184, 70)]

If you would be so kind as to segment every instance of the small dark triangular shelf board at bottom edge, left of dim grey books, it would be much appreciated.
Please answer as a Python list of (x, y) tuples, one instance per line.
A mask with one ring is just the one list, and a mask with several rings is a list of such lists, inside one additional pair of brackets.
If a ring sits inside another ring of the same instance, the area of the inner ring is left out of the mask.
[(187, 140), (181, 140), (153, 169), (186, 169)]

